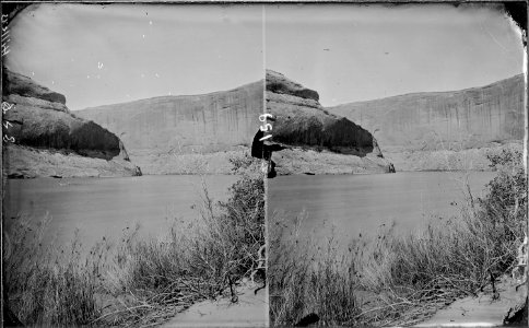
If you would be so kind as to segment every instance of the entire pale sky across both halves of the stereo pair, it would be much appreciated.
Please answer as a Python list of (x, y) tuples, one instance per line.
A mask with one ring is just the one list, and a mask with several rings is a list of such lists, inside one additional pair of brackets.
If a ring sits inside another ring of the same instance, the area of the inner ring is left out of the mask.
[(521, 33), (491, 4), (47, 3), (10, 27), (8, 68), (64, 94), (72, 110), (230, 90), (263, 79), (264, 67), (324, 106), (524, 71)]

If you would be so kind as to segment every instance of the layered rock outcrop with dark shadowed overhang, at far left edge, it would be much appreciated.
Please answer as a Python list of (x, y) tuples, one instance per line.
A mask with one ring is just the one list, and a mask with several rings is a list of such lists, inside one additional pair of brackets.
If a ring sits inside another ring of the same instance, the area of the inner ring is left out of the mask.
[[(8, 176), (98, 176), (99, 168), (104, 176), (140, 174), (127, 161), (119, 138), (72, 115), (63, 95), (7, 69), (2, 82), (5, 91), (2, 99), (14, 105), (3, 116), (11, 125), (4, 131), (15, 140), (5, 144)], [(69, 165), (71, 162), (78, 164)], [(70, 167), (67, 173), (62, 172), (64, 167)], [(92, 174), (86, 174), (87, 171)]]

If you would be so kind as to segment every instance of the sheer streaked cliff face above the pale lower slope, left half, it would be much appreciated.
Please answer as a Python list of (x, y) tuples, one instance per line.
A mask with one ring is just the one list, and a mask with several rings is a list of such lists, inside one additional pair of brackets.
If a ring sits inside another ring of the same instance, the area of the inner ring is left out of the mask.
[(262, 114), (262, 82), (226, 92), (162, 96), (75, 115), (120, 136), (130, 153), (193, 153), (249, 145)]

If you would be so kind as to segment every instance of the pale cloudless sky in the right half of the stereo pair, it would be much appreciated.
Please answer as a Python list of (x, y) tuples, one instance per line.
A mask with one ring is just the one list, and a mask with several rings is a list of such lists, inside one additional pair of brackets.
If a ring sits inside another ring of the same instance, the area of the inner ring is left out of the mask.
[(324, 106), (452, 91), (524, 72), (521, 33), (491, 5), (266, 8), (266, 67)]

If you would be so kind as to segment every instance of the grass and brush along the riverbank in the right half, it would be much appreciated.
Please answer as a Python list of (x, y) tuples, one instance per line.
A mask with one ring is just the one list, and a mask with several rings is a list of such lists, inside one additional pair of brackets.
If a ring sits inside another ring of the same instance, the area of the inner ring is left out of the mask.
[(270, 219), (270, 321), (295, 325), (310, 313), (320, 325), (412, 325), (438, 308), (477, 295), (508, 273), (527, 231), (522, 154), (489, 155), (496, 177), (482, 199), (468, 188), (459, 218), (432, 222), (420, 233), (392, 227), (343, 250), (330, 237), (314, 249), (284, 218)]

